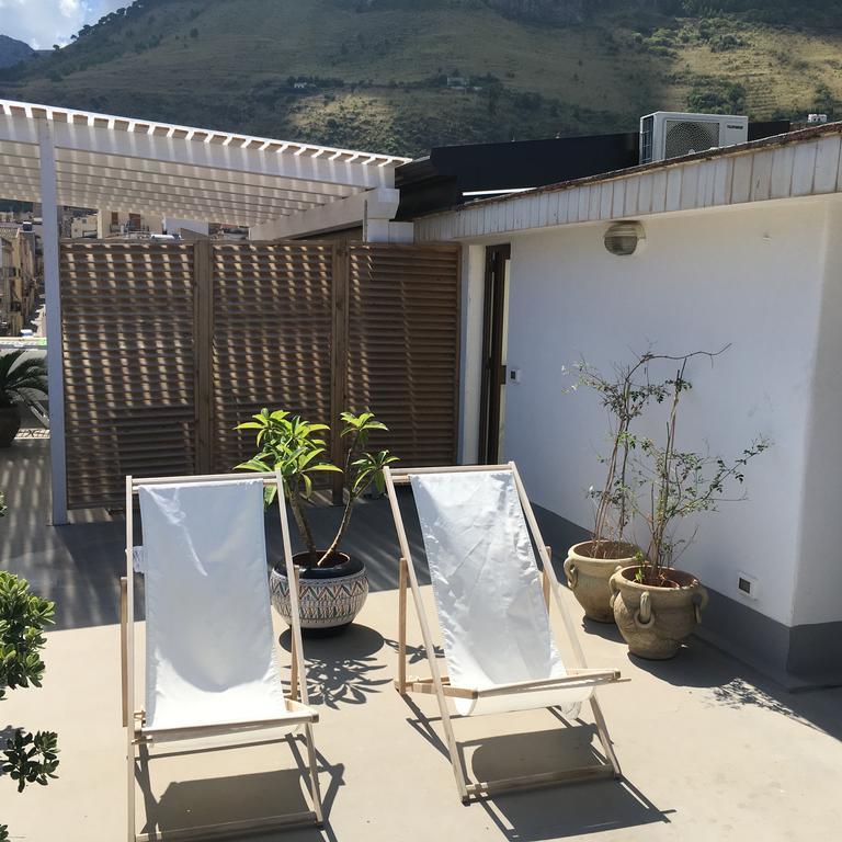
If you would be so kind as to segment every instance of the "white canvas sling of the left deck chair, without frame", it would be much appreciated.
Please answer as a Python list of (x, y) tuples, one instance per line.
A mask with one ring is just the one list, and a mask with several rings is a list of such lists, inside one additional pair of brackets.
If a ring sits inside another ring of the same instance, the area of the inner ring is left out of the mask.
[[(288, 716), (275, 663), (263, 482), (141, 486), (149, 733)], [(236, 564), (232, 564), (236, 560)]]

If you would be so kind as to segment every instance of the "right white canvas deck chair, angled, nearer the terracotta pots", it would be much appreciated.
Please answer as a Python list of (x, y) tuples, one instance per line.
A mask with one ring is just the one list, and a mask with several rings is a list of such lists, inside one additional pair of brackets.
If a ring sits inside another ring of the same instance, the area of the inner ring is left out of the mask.
[[(402, 558), (399, 582), (398, 679), (401, 693), (434, 694), (464, 803), (471, 796), (621, 776), (595, 687), (621, 680), (589, 670), (576, 627), (514, 463), (497, 466), (385, 469)], [(448, 674), (442, 675), (421, 603), (395, 492), (411, 485), (430, 567)], [(528, 524), (528, 525), (527, 525)], [(532, 535), (532, 539), (531, 539)], [(538, 549), (538, 570), (532, 543)], [(542, 587), (543, 577), (543, 587)], [(418, 612), (431, 678), (407, 678), (407, 579)], [(564, 618), (577, 667), (568, 669), (553, 639), (549, 596)], [(458, 716), (560, 708), (568, 720), (590, 702), (606, 763), (471, 783), (457, 749), (446, 698)]]

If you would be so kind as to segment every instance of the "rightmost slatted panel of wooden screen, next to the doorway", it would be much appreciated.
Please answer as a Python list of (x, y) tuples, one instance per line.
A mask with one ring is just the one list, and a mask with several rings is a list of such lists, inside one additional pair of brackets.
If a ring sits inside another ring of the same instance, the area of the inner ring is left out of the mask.
[(456, 460), (458, 246), (350, 244), (346, 403), (371, 407), (403, 465)]

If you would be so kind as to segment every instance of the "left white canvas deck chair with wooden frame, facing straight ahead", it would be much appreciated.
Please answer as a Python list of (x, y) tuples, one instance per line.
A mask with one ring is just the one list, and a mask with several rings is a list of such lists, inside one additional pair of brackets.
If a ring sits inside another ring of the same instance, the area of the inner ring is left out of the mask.
[[(123, 724), (128, 748), (128, 841), (214, 839), (322, 821), (301, 655), (297, 579), (281, 478), (126, 477), (126, 576), (122, 580)], [(277, 487), (291, 582), (293, 670), (284, 696), (270, 608), (263, 487)], [(133, 549), (133, 494), (144, 547)], [(146, 704), (135, 710), (133, 559), (146, 595)], [(297, 702), (300, 690), (300, 703)], [(130, 727), (128, 727), (130, 726)], [(304, 729), (312, 809), (253, 820), (136, 833), (135, 756), (177, 742), (178, 753), (281, 742)]]

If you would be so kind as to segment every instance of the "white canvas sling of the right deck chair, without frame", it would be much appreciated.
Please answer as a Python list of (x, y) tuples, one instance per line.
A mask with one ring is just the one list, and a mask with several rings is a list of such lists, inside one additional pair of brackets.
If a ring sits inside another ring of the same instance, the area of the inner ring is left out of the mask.
[[(511, 470), (410, 477), (444, 638), (451, 686), (567, 676), (549, 628), (541, 573)], [(560, 706), (568, 717), (592, 687), (455, 697), (463, 715)]]

